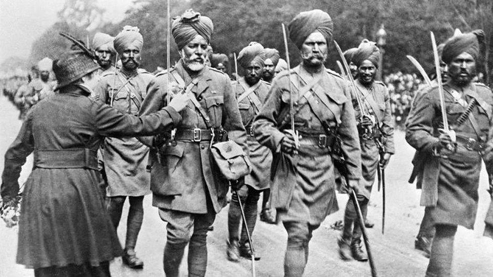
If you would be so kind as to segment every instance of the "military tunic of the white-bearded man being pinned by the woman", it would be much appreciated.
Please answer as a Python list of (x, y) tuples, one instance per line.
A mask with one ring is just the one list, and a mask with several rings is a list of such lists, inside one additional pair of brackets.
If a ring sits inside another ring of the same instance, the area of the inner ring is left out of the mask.
[[(158, 74), (149, 84), (140, 115), (154, 113), (167, 105), (167, 74), (167, 72)], [(190, 84), (192, 81), (182, 62), (178, 62), (169, 76), (170, 89), (174, 92), (184, 89), (174, 74), (178, 74), (185, 84)], [(248, 153), (247, 136), (228, 76), (216, 69), (206, 67), (200, 73), (198, 82), (193, 85), (191, 92), (207, 112), (210, 126), (214, 129), (223, 127), (229, 139), (238, 143)], [(176, 126), (177, 130), (207, 129), (203, 117), (191, 101), (182, 110), (181, 115), (183, 119)], [(209, 202), (217, 213), (226, 205), (229, 183), (222, 178), (212, 160), (210, 141), (181, 140), (176, 141), (174, 146), (164, 146), (159, 151), (155, 151), (156, 145), (153, 145), (152, 139), (142, 138), (142, 140), (152, 146), (153, 205), (164, 209), (160, 212), (163, 219), (166, 218), (167, 211), (205, 214), (208, 213)], [(157, 155), (160, 155), (159, 159)]]

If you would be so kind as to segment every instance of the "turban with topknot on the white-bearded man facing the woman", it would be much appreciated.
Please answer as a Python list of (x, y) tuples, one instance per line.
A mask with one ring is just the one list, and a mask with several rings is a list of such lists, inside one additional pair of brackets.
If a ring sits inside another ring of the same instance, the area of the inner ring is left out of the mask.
[(201, 16), (200, 13), (193, 10), (185, 11), (180, 17), (174, 19), (171, 24), (171, 33), (176, 45), (178, 45), (178, 49), (182, 49), (197, 35), (203, 36), (207, 43), (210, 43), (213, 30), (214, 24), (212, 24), (212, 20), (207, 16)]

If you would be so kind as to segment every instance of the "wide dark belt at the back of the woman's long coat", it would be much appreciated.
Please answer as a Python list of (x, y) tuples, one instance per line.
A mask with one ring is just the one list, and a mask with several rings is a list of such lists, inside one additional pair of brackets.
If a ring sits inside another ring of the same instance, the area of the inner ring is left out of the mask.
[(88, 148), (34, 150), (34, 167), (97, 170), (97, 152)]

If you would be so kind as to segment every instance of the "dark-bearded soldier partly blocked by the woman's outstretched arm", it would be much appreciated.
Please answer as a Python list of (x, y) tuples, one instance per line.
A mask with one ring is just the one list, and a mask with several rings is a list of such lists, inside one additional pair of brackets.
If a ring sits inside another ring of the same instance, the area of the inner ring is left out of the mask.
[[(145, 98), (147, 85), (154, 75), (138, 71), (141, 63), (142, 35), (137, 27), (125, 26), (114, 39), (114, 47), (121, 57), (122, 68), (107, 71), (94, 89), (97, 101), (110, 104), (122, 113), (137, 115)], [(130, 209), (123, 263), (131, 268), (142, 268), (143, 262), (135, 254), (137, 236), (142, 226), (144, 195), (150, 193), (150, 176), (145, 171), (149, 148), (133, 137), (106, 138), (103, 161), (108, 181), (107, 208), (118, 228), (125, 199)]]

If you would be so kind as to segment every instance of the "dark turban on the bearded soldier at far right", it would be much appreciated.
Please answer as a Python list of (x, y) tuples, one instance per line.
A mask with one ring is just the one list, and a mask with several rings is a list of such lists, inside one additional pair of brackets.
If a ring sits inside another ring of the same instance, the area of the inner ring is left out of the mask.
[(479, 58), (479, 44), (483, 43), (483, 30), (475, 30), (470, 33), (457, 34), (449, 38), (443, 46), (441, 59), (446, 64), (459, 56), (462, 52), (471, 54), (475, 61)]

